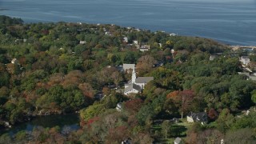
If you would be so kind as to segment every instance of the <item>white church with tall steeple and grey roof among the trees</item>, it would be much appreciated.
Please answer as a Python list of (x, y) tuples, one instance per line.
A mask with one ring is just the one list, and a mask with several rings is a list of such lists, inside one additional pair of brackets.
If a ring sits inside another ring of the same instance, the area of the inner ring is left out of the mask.
[(142, 92), (147, 82), (154, 80), (154, 77), (136, 77), (135, 68), (131, 80), (125, 84), (124, 94), (128, 95), (131, 93), (138, 94)]

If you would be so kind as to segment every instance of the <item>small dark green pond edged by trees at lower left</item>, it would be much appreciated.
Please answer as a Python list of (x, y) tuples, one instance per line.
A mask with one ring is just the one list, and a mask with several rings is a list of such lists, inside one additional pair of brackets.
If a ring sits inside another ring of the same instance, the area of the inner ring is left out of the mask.
[(80, 128), (79, 122), (79, 114), (38, 116), (36, 118), (33, 118), (30, 122), (23, 122), (18, 125), (12, 126), (10, 129), (0, 130), (0, 135), (5, 133), (14, 135), (21, 130), (32, 131), (36, 126), (42, 126), (44, 128), (59, 126), (61, 130), (63, 130), (63, 128), (78, 130)]

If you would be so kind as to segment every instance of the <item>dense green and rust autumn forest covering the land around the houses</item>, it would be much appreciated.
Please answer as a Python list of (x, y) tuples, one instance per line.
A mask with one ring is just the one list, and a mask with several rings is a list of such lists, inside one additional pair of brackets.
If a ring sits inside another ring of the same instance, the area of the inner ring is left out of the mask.
[[(138, 50), (143, 45), (150, 50)], [(218, 58), (210, 61), (212, 54)], [(239, 54), (207, 38), (107, 24), (24, 24), (0, 16), (0, 129), (37, 115), (79, 111), (81, 117), (77, 131), (37, 127), (2, 134), (0, 143), (152, 143), (176, 137), (184, 143), (255, 143), (256, 85), (238, 74)], [(136, 64), (139, 76), (154, 81), (129, 96), (112, 89), (130, 80), (131, 74), (118, 70), (123, 63)], [(101, 93), (105, 97), (96, 99)], [(187, 114), (203, 111), (208, 124), (183, 125)]]

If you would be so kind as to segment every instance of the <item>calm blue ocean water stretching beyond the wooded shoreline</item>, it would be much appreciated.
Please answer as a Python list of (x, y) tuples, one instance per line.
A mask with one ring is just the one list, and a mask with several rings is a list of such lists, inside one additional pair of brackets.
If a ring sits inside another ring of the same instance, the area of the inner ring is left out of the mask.
[(256, 0), (0, 0), (25, 22), (87, 22), (256, 46)]

